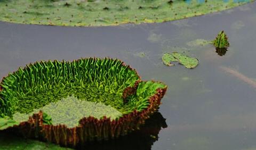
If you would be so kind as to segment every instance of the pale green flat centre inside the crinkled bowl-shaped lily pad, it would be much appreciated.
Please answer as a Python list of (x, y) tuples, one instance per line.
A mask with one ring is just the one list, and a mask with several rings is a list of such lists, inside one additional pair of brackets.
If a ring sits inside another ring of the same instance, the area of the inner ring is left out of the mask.
[(17, 122), (27, 121), (28, 116), (38, 113), (40, 110), (51, 116), (53, 125), (66, 124), (69, 128), (78, 126), (78, 121), (84, 117), (93, 116), (100, 119), (102, 116), (107, 116), (107, 118), (116, 119), (122, 116), (121, 112), (109, 105), (100, 102), (88, 102), (69, 96), (58, 102), (49, 103), (41, 109), (35, 109), (29, 114), (17, 112), (13, 114), (13, 120)]

